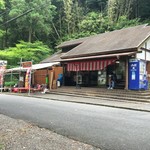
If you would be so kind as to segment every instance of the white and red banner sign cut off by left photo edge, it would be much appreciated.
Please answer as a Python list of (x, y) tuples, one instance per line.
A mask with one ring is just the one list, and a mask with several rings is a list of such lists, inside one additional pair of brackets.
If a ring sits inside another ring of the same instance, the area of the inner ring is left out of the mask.
[(7, 61), (0, 60), (0, 87), (3, 88), (4, 72), (6, 70)]

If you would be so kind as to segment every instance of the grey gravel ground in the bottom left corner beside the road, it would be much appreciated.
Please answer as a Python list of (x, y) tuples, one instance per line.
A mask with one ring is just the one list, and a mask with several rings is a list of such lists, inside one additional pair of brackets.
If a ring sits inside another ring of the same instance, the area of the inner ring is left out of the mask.
[(0, 150), (100, 150), (0, 114)]

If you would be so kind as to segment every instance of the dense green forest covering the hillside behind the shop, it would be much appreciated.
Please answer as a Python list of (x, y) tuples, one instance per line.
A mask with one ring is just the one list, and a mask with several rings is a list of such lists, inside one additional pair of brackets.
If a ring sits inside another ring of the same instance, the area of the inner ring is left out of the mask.
[(43, 57), (32, 57), (38, 63), (63, 41), (144, 23), (150, 23), (149, 0), (0, 0), (0, 59), (17, 65), (10, 58), (21, 59), (18, 45), (29, 56), (34, 52), (26, 48), (39, 49), (40, 42)]

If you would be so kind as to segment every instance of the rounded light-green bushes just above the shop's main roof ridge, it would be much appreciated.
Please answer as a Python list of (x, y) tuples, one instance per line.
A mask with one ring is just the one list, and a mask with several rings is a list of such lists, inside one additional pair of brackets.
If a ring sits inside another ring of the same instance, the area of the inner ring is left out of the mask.
[(135, 26), (138, 24), (140, 24), (139, 19), (129, 20), (127, 19), (127, 16), (120, 16), (118, 18), (118, 21), (112, 22), (111, 20), (109, 20), (108, 16), (101, 13), (92, 12), (89, 13), (79, 24), (79, 28), (82, 33), (91, 35), (95, 33), (113, 31), (124, 27)]

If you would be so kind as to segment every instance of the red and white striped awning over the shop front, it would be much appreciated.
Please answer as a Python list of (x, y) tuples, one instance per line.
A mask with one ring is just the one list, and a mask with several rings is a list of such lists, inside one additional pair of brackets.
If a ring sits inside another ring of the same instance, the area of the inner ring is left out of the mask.
[(68, 62), (67, 71), (96, 71), (103, 70), (108, 65), (115, 63), (116, 58), (103, 59), (103, 60), (88, 60)]

